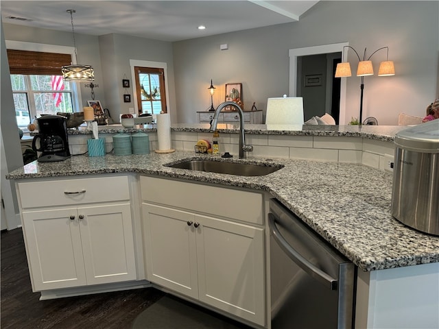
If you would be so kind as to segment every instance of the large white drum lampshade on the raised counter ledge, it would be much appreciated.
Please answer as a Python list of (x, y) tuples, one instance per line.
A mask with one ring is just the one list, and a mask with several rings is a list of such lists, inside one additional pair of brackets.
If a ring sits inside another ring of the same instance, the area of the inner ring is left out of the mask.
[(303, 98), (277, 97), (267, 100), (266, 125), (302, 125)]

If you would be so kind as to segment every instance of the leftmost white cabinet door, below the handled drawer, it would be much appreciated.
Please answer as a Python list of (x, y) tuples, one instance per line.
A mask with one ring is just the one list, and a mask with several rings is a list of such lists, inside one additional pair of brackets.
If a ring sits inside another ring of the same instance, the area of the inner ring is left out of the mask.
[(23, 232), (34, 291), (86, 284), (75, 208), (23, 212)]

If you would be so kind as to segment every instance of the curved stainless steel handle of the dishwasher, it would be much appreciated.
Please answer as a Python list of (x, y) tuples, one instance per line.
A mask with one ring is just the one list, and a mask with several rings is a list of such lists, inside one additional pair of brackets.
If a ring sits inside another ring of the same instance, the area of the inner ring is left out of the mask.
[(278, 245), (283, 249), (285, 254), (289, 258), (291, 258), (294, 263), (300, 266), (305, 272), (307, 272), (313, 278), (319, 280), (323, 284), (329, 284), (329, 289), (337, 290), (337, 280), (330, 276), (328, 273), (325, 273), (312, 263), (310, 263), (306, 258), (300, 255), (294, 248), (287, 243), (285, 238), (282, 236), (281, 231), (276, 227), (276, 217), (270, 213), (268, 214), (268, 227), (272, 233), (272, 236), (278, 243)]

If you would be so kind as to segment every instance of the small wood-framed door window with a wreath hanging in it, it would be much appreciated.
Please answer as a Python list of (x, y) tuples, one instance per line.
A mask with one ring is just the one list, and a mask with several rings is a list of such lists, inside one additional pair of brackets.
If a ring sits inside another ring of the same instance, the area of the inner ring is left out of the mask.
[(134, 66), (139, 114), (167, 112), (163, 69)]

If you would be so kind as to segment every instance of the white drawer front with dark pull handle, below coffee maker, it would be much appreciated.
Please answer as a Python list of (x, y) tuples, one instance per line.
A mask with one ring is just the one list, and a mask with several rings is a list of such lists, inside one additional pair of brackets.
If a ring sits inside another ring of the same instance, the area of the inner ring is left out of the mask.
[(23, 208), (130, 199), (127, 176), (21, 182), (18, 186)]

